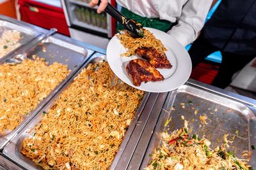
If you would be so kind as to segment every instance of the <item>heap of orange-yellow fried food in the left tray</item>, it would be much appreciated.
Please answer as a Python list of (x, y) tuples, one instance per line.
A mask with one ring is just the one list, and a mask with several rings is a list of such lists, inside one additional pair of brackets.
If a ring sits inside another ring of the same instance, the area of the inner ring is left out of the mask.
[(67, 66), (44, 59), (0, 65), (0, 134), (17, 127), (68, 74)]

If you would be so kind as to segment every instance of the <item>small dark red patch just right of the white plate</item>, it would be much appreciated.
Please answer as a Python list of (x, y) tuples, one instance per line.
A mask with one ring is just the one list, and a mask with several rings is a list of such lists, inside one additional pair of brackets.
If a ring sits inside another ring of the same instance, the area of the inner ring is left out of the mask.
[(216, 64), (201, 62), (193, 69), (190, 78), (203, 83), (211, 84), (218, 73), (218, 69), (219, 66)]

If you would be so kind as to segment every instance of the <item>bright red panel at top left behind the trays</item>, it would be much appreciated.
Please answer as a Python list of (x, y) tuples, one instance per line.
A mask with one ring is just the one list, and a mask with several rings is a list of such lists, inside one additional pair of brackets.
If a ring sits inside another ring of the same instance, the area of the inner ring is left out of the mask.
[(32, 0), (19, 0), (21, 20), (45, 29), (56, 28), (70, 36), (62, 8)]

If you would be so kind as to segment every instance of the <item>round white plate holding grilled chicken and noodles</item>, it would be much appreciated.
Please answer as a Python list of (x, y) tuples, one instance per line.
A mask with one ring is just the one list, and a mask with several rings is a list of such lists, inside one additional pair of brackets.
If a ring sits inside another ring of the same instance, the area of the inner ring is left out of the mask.
[(136, 89), (140, 89), (146, 92), (168, 92), (175, 90), (180, 85), (183, 85), (188, 80), (192, 64), (188, 52), (176, 39), (172, 38), (169, 34), (159, 31), (157, 29), (146, 28), (150, 32), (154, 33), (157, 39), (160, 39), (163, 45), (168, 49), (165, 53), (168, 60), (172, 64), (171, 69), (157, 69), (163, 76), (163, 81), (141, 83), (140, 86), (134, 86), (127, 71), (125, 69), (129, 60), (137, 59), (139, 57), (121, 57), (120, 55), (126, 50), (120, 43), (120, 40), (114, 36), (108, 44), (107, 59), (108, 64), (112, 71), (122, 81), (131, 85)]

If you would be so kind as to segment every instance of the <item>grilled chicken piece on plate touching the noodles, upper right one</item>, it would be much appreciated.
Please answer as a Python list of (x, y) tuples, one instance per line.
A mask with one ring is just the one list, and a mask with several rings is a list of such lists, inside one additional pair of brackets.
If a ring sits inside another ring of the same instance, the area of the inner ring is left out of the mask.
[(155, 68), (170, 69), (172, 64), (167, 59), (165, 53), (157, 52), (153, 47), (142, 47), (135, 50), (136, 54), (143, 59), (148, 60)]

